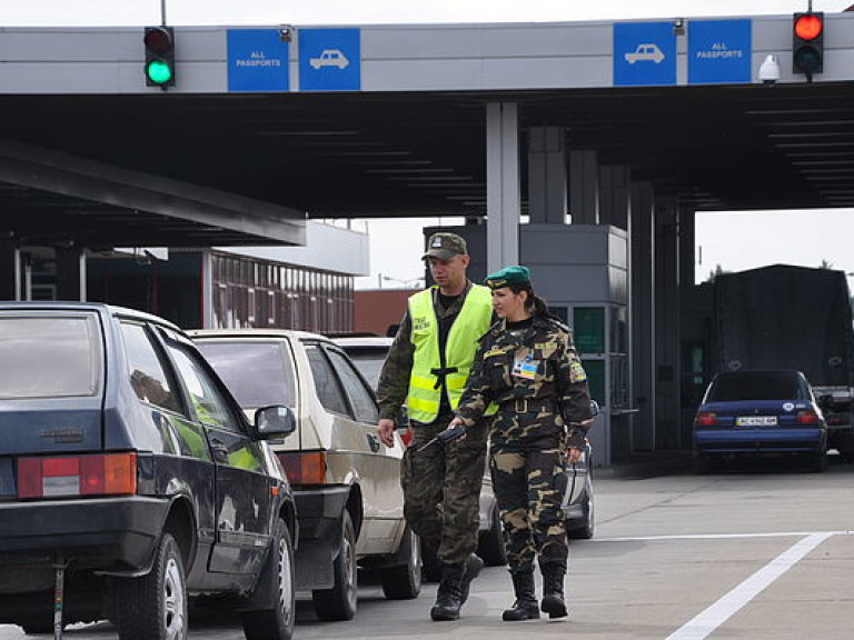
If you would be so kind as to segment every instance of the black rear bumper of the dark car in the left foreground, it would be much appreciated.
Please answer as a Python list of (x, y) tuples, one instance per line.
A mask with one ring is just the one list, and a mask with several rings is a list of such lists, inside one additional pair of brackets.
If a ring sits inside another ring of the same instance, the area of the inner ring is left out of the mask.
[(0, 502), (0, 591), (10, 592), (16, 567), (51, 568), (58, 556), (70, 570), (145, 571), (168, 510), (140, 496)]

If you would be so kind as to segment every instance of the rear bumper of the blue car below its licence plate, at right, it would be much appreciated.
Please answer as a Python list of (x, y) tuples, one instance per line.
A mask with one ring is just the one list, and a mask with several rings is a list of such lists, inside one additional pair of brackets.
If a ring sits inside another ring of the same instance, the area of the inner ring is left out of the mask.
[(825, 429), (708, 429), (694, 432), (701, 453), (818, 452), (827, 442)]

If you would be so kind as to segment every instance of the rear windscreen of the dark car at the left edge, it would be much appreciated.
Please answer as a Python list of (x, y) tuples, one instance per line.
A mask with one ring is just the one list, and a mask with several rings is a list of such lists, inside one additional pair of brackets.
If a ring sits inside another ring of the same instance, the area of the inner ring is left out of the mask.
[(92, 316), (0, 318), (0, 398), (95, 396), (100, 344)]

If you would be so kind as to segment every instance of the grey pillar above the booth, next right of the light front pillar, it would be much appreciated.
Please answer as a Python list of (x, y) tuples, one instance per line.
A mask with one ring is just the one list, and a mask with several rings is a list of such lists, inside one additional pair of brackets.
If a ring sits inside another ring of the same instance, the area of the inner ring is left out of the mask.
[(563, 127), (528, 130), (528, 214), (532, 224), (566, 222), (566, 131)]

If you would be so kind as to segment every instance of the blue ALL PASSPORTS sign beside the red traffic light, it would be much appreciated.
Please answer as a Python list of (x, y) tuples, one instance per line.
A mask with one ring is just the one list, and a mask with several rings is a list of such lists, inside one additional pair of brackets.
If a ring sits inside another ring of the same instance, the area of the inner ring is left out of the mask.
[(688, 83), (751, 81), (749, 20), (692, 20), (688, 23)]

